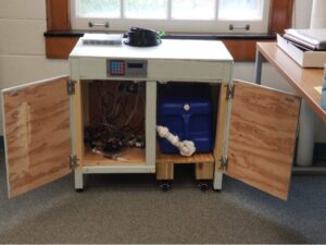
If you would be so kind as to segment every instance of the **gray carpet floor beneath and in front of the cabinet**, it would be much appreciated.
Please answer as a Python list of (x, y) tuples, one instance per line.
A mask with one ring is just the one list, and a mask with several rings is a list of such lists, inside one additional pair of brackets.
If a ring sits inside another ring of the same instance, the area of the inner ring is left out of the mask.
[(0, 172), (0, 243), (326, 243), (326, 176), (293, 176), (287, 203), (228, 177), (200, 192), (190, 167), (167, 193), (153, 175), (106, 174), (8, 199), (3, 154)]

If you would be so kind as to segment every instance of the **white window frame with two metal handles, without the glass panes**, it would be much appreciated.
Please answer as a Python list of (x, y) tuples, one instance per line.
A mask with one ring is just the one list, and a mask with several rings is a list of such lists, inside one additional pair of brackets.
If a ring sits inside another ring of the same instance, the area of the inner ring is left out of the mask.
[[(77, 2), (76, 0), (71, 1), (71, 25), (73, 29), (86, 29), (86, 30), (110, 30), (110, 32), (120, 32), (122, 29), (128, 29), (130, 26), (135, 25), (142, 28), (151, 29), (162, 29), (168, 33), (249, 33), (249, 34), (262, 34), (268, 32), (268, 20), (223, 20), (218, 19), (218, 0), (215, 1), (214, 10), (214, 20), (173, 20), (171, 16), (171, 3), (167, 4), (167, 19), (155, 20), (155, 19), (127, 19), (124, 17), (122, 11), (125, 10), (124, 7), (121, 7), (121, 17), (91, 17), (91, 16), (75, 16), (77, 12)], [(262, 0), (264, 1), (264, 7), (262, 9), (262, 15), (269, 17), (269, 5), (272, 0)], [(123, 2), (121, 2), (123, 4)], [(102, 24), (102, 26), (89, 27), (89, 22)], [(104, 24), (110, 23), (110, 29), (105, 29)], [(230, 28), (235, 26), (235, 28)], [(249, 28), (247, 29), (247, 26)]]

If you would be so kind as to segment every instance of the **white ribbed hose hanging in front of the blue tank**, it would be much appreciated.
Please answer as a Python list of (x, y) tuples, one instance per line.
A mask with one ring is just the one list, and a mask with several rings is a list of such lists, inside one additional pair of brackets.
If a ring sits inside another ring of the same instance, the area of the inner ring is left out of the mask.
[(190, 157), (196, 152), (196, 147), (193, 142), (190, 140), (180, 142), (179, 137), (170, 133), (168, 128), (165, 126), (156, 126), (156, 131), (161, 138), (166, 138), (172, 145), (177, 147), (181, 156)]

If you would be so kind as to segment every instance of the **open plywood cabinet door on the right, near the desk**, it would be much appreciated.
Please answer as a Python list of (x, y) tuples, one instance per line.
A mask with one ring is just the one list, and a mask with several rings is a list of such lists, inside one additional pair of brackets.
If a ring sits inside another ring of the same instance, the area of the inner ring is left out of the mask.
[(226, 174), (288, 198), (301, 99), (234, 82)]

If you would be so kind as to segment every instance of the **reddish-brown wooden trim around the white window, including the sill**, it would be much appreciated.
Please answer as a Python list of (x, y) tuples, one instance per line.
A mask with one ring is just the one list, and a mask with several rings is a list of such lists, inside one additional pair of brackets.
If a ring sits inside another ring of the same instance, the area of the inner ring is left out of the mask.
[[(215, 35), (214, 39), (224, 41), (235, 61), (252, 62), (255, 60), (256, 41), (275, 40), (276, 33), (284, 33), (284, 29), (291, 26), (293, 1), (271, 1), (267, 35)], [(46, 7), (47, 32), (45, 33), (45, 37), (47, 58), (67, 59), (71, 50), (84, 33), (71, 29), (70, 0), (46, 0)], [(205, 35), (200, 35), (197, 38), (205, 38)]]

